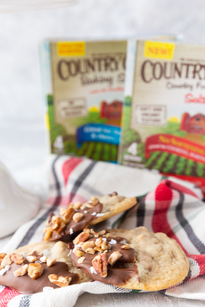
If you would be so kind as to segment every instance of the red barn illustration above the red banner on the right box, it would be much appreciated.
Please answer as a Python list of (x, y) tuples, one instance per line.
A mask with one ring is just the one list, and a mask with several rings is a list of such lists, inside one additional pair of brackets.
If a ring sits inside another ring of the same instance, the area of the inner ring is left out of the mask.
[(179, 130), (191, 134), (205, 134), (205, 115), (198, 113), (190, 116), (189, 113), (183, 113)]

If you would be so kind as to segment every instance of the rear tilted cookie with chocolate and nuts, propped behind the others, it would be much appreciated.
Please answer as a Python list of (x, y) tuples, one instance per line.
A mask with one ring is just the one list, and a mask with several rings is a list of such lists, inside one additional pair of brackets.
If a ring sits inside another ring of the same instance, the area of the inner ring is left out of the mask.
[(124, 197), (116, 192), (105, 196), (93, 196), (85, 204), (70, 203), (60, 209), (60, 215), (50, 214), (45, 228), (44, 240), (52, 241), (72, 235), (85, 227), (100, 223), (136, 204), (135, 197)]

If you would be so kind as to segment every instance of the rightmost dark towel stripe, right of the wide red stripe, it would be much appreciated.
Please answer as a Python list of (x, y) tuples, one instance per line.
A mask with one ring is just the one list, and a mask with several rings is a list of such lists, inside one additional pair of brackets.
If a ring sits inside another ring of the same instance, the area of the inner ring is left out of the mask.
[[(179, 192), (179, 191), (178, 191)], [(179, 192), (179, 203), (176, 206), (176, 217), (179, 221), (180, 225), (186, 232), (189, 240), (191, 243), (196, 247), (196, 249), (199, 251), (200, 254), (205, 254), (205, 246), (203, 243), (199, 240), (199, 238), (195, 235), (193, 229), (191, 228), (189, 222), (185, 219), (183, 216), (183, 201), (184, 201), (184, 195), (183, 193)]]

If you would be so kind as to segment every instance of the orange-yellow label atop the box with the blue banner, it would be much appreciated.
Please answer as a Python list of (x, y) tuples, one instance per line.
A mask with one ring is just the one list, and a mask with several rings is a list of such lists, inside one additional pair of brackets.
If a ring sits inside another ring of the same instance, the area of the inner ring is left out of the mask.
[(62, 41), (57, 43), (59, 56), (84, 56), (85, 42), (83, 41)]

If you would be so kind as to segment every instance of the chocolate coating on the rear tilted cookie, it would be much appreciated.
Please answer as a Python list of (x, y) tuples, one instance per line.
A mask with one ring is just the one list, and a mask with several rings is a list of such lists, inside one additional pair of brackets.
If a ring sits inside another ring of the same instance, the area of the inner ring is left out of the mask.
[[(91, 215), (91, 213), (101, 213), (103, 208), (103, 204), (99, 203), (93, 208), (85, 208), (83, 210), (79, 209), (78, 212), (84, 214), (84, 218), (82, 218), (79, 222), (75, 222), (73, 219), (66, 225), (65, 230), (62, 231), (60, 234), (58, 234), (56, 231), (53, 231), (51, 234), (51, 237), (49, 238), (49, 241), (53, 241), (56, 239), (62, 238), (64, 235), (70, 235), (70, 228), (73, 229), (73, 233), (82, 230), (85, 228), (92, 220), (96, 218), (96, 215)], [(84, 211), (88, 211), (87, 213), (84, 213)]]

